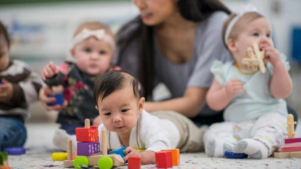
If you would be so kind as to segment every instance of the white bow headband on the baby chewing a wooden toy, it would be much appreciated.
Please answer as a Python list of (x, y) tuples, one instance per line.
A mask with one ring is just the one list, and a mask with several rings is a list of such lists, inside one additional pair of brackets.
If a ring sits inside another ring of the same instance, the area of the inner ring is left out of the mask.
[(242, 17), (244, 16), (245, 14), (247, 13), (251, 13), (251, 12), (256, 12), (258, 13), (256, 7), (254, 7), (253, 5), (249, 4), (249, 5), (245, 5), (245, 6), (241, 6), (239, 11), (236, 12), (236, 16), (233, 17), (233, 19), (229, 22), (228, 26), (227, 26), (227, 29), (225, 31), (225, 44), (227, 45), (227, 41), (229, 39), (229, 35), (230, 35), (230, 32), (233, 28), (233, 26), (235, 25), (235, 23)]

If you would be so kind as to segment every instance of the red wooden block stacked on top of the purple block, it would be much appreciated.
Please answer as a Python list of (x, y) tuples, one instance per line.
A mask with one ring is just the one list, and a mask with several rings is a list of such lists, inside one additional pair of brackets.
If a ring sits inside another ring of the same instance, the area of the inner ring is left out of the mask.
[(76, 141), (78, 142), (98, 142), (98, 126), (90, 126), (90, 128), (75, 128)]

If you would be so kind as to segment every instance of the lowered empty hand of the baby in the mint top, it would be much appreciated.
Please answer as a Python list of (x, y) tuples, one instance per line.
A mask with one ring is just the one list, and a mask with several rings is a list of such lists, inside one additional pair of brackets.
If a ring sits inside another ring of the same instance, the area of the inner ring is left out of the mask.
[(226, 94), (233, 98), (235, 95), (238, 93), (241, 93), (244, 91), (243, 87), (244, 83), (242, 83), (238, 79), (231, 79), (227, 82), (225, 89), (226, 89)]

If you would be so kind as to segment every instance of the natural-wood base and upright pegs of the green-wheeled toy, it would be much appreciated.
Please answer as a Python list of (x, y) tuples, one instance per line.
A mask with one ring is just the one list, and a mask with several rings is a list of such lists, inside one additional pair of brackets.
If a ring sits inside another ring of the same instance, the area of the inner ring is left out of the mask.
[[(89, 119), (85, 119), (85, 128), (90, 128), (90, 120)], [(108, 155), (107, 154), (107, 130), (103, 129), (101, 131), (102, 134), (102, 155), (90, 155), (90, 156), (77, 156), (78, 157), (84, 157), (88, 159), (88, 166), (98, 166), (99, 168), (103, 168), (104, 166), (106, 166), (106, 164), (100, 164), (101, 162), (101, 157), (110, 157), (113, 161), (113, 166), (120, 166), (120, 165), (124, 165), (124, 160), (123, 158), (118, 155), (118, 154), (112, 154), (112, 155)], [(67, 141), (67, 156), (68, 156), (68, 160), (64, 161), (64, 166), (74, 166), (74, 161), (76, 160), (76, 158), (74, 160), (72, 160), (72, 141), (68, 140)], [(104, 158), (102, 158), (104, 159)], [(108, 159), (107, 159), (108, 161)]]

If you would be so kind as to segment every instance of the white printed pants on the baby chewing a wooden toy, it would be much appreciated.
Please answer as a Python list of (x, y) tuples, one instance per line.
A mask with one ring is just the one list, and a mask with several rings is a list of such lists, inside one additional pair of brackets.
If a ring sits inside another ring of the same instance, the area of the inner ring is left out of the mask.
[(210, 125), (203, 137), (204, 145), (214, 137), (233, 146), (244, 138), (252, 138), (263, 142), (269, 149), (268, 156), (274, 151), (281, 151), (287, 132), (287, 117), (279, 113), (269, 113), (260, 116), (257, 120), (244, 122), (221, 122)]

